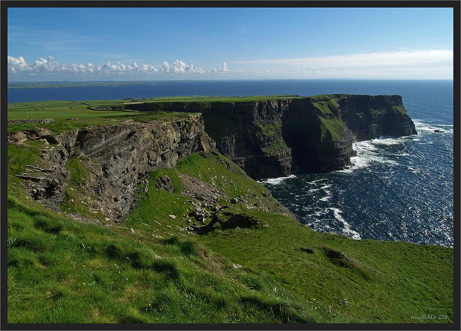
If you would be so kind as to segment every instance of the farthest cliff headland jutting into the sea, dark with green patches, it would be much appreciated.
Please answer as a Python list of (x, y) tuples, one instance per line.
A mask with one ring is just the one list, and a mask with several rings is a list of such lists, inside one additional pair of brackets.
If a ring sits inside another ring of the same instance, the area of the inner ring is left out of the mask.
[(293, 100), (282, 120), (294, 159), (340, 170), (350, 165), (354, 141), (417, 134), (400, 96), (328, 95)]

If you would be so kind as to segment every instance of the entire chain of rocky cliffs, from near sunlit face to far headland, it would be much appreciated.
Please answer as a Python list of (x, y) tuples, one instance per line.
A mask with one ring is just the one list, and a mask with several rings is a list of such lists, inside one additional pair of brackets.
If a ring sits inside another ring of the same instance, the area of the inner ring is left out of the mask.
[[(28, 180), (30, 195), (50, 209), (82, 210), (101, 221), (119, 221), (137, 205), (138, 186), (148, 184), (152, 171), (173, 168), (198, 151), (216, 148), (251, 178), (269, 178), (289, 175), (299, 162), (343, 169), (355, 155), (353, 141), (416, 134), (400, 96), (329, 95), (129, 107), (151, 114), (168, 112), (162, 119), (140, 120), (132, 114), (61, 134), (44, 127), (46, 123), (31, 131), (8, 133), (8, 142), (14, 144), (30, 139), (47, 145), (41, 150), (41, 166), (29, 165), (26, 172), (16, 174)], [(172, 188), (168, 178), (162, 185)]]

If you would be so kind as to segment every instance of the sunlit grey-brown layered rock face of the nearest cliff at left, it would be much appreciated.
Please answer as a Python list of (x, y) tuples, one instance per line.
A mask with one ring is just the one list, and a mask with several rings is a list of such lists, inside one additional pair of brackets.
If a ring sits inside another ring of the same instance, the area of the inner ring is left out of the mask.
[(150, 172), (174, 167), (187, 155), (215, 147), (203, 129), (202, 116), (193, 114), (171, 121), (125, 120), (121, 125), (74, 130), (53, 137), (56, 146), (42, 151), (46, 169), (31, 169), (19, 177), (30, 180), (28, 191), (36, 200), (59, 210), (66, 203), (67, 182), (76, 172), (67, 170), (66, 164), (77, 156), (74, 168), (83, 176), (77, 179), (79, 195), (85, 197), (82, 203), (106, 221), (116, 221), (136, 204), (137, 186)]

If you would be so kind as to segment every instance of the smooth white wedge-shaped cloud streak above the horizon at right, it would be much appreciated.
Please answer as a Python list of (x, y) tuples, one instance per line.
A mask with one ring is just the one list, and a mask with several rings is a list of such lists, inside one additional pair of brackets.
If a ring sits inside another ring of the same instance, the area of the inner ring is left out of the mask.
[(293, 78), (453, 79), (452, 50), (402, 50), (229, 64)]

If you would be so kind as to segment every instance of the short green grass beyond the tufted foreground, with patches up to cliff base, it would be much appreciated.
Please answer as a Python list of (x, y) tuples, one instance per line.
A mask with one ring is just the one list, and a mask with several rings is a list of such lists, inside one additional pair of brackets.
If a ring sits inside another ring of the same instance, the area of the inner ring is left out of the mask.
[[(212, 174), (219, 171), (226, 178), (219, 187), (230, 192), (240, 188), (229, 194), (230, 197), (248, 190), (244, 183), (226, 184), (232, 182), (232, 173), (219, 169), (219, 164), (217, 158), (195, 154), (181, 161), (176, 170), (187, 169), (189, 175), (199, 176), (209, 183)], [(252, 190), (257, 190), (259, 184), (252, 185)], [(156, 225), (156, 233), (160, 235), (171, 233), (174, 226), (185, 226), (184, 220), (192, 210), (186, 198), (181, 200), (179, 194), (164, 190), (149, 193), (153, 200), (140, 203), (130, 218), (130, 226), (148, 231), (143, 222), (151, 215), (161, 224)], [(263, 199), (261, 194), (257, 196)], [(172, 220), (167, 215), (169, 211), (177, 219)], [(354, 240), (318, 233), (278, 213), (248, 209), (239, 204), (224, 211), (227, 215), (219, 215), (221, 224), (230, 218), (229, 215), (239, 213), (258, 220), (261, 226), (235, 229), (218, 225), (214, 231), (195, 236), (196, 240), (235, 263), (282, 284), (309, 302), (338, 307), (340, 301), (334, 298), (346, 299), (350, 304), (341, 309), (354, 321), (366, 323), (428, 322), (412, 320), (412, 316), (423, 314), (447, 316), (447, 319), (431, 322), (453, 322), (453, 250), (450, 248)], [(149, 224), (155, 225), (152, 221)], [(186, 231), (182, 233), (187, 234)], [(314, 253), (306, 253), (301, 248), (310, 248)]]

